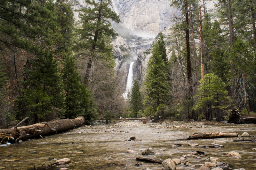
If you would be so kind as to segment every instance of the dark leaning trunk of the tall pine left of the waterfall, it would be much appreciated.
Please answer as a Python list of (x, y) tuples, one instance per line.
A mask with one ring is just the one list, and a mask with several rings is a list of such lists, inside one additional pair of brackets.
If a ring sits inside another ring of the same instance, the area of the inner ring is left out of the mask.
[[(100, 31), (99, 23), (100, 23), (100, 20), (101, 20), (102, 4), (103, 4), (103, 0), (100, 0), (99, 15), (98, 15), (98, 25), (96, 26), (96, 31), (95, 31), (94, 39), (93, 39), (94, 44), (92, 45), (92, 50), (93, 51), (96, 49), (96, 42), (98, 40), (99, 31)], [(87, 69), (85, 71), (85, 76), (84, 76), (85, 82), (89, 81), (89, 75), (90, 75), (91, 67), (92, 67), (92, 55), (89, 56), (89, 60), (88, 60), (88, 63), (87, 63)]]

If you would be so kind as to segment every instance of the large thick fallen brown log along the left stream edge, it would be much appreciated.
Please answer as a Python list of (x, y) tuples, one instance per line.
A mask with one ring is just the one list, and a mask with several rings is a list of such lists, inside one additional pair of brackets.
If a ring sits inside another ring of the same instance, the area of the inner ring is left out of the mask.
[(13, 129), (0, 129), (0, 142), (3, 139), (12, 142), (14, 142), (16, 139), (27, 140), (54, 134), (72, 128), (77, 128), (83, 124), (84, 117), (79, 116), (75, 119), (62, 119), (51, 122), (40, 122), (33, 125), (22, 126)]

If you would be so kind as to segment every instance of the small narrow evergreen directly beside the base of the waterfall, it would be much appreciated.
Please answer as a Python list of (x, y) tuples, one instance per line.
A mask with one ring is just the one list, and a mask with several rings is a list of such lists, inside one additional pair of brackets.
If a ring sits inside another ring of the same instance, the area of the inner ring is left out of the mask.
[(140, 94), (140, 86), (136, 78), (133, 83), (132, 94), (131, 94), (131, 112), (132, 112), (132, 115), (135, 116), (135, 118), (138, 117), (138, 113), (141, 109), (141, 105), (142, 105), (142, 100), (141, 100), (141, 94)]

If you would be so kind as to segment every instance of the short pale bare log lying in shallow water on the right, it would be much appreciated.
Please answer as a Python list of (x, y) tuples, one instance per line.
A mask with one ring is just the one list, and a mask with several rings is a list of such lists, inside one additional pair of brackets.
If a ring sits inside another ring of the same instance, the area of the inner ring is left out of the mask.
[(189, 136), (187, 139), (210, 139), (210, 138), (221, 138), (221, 137), (237, 137), (237, 133), (196, 133)]

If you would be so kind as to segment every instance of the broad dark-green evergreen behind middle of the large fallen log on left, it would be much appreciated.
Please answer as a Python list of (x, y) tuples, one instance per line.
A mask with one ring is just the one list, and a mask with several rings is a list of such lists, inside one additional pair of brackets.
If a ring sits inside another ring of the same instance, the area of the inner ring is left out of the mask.
[(32, 122), (49, 121), (62, 117), (65, 112), (65, 95), (58, 66), (52, 52), (38, 50), (31, 66), (26, 69), (23, 93), (18, 98), (20, 113), (18, 118), (26, 117)]

